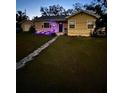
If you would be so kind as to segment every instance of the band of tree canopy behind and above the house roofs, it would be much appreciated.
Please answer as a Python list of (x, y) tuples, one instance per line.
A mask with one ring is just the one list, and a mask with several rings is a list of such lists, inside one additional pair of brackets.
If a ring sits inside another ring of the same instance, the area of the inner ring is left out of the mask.
[(107, 0), (93, 0), (90, 4), (83, 5), (82, 3), (75, 3), (72, 9), (65, 9), (63, 6), (51, 5), (49, 7), (41, 6), (40, 12), (42, 16), (57, 16), (57, 15), (71, 15), (81, 10), (94, 11), (98, 15), (103, 15), (107, 11)]

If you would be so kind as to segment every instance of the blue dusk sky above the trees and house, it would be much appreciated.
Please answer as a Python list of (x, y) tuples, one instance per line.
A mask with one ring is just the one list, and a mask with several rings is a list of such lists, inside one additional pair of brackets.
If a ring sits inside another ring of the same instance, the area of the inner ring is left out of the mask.
[(40, 16), (41, 6), (59, 4), (65, 9), (69, 9), (74, 3), (86, 4), (91, 1), (93, 0), (16, 0), (16, 10), (24, 11), (26, 9), (27, 15), (32, 18), (33, 16)]

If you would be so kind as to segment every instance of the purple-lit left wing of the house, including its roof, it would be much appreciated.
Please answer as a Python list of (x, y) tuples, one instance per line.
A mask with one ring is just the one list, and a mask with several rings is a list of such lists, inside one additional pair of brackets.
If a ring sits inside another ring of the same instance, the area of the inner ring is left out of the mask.
[(42, 16), (33, 20), (33, 23), (37, 33), (58, 33), (67, 29), (66, 16)]

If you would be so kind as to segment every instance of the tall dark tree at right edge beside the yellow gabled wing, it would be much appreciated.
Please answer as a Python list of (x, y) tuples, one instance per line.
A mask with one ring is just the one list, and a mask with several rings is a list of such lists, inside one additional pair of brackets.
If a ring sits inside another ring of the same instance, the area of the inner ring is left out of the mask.
[(96, 20), (96, 29), (101, 27), (107, 29), (107, 0), (94, 0), (89, 5), (84, 5), (84, 8), (100, 15), (100, 18)]

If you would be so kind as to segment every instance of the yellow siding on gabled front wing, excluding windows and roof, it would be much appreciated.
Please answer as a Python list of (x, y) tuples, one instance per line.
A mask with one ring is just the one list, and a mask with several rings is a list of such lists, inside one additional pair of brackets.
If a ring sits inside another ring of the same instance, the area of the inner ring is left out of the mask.
[[(70, 21), (75, 21), (75, 28), (69, 28)], [(69, 36), (90, 36), (91, 29), (88, 29), (88, 26), (87, 26), (88, 21), (96, 21), (96, 18), (85, 13), (80, 13), (70, 17), (68, 19), (68, 35)]]

